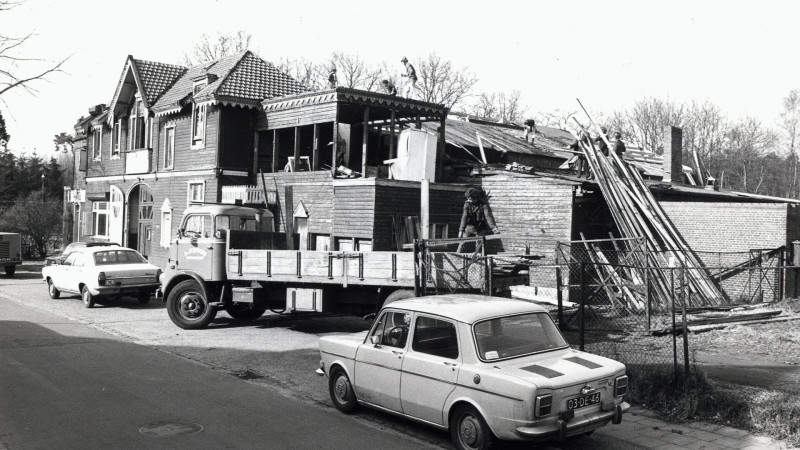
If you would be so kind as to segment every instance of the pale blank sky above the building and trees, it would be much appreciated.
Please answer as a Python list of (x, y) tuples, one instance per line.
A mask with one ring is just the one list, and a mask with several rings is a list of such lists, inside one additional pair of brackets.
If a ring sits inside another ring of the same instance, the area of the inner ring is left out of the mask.
[(576, 97), (610, 112), (657, 96), (773, 125), (800, 87), (798, 13), (788, 1), (27, 0), (0, 12), (0, 32), (34, 31), (27, 57), (71, 58), (36, 96), (5, 94), (0, 111), (10, 149), (50, 156), (54, 134), (110, 102), (127, 55), (179, 63), (202, 33), (243, 29), (267, 61), (342, 51), (400, 72), (402, 56), (436, 52), (475, 72), (477, 92), (519, 89), (532, 112), (575, 110)]

